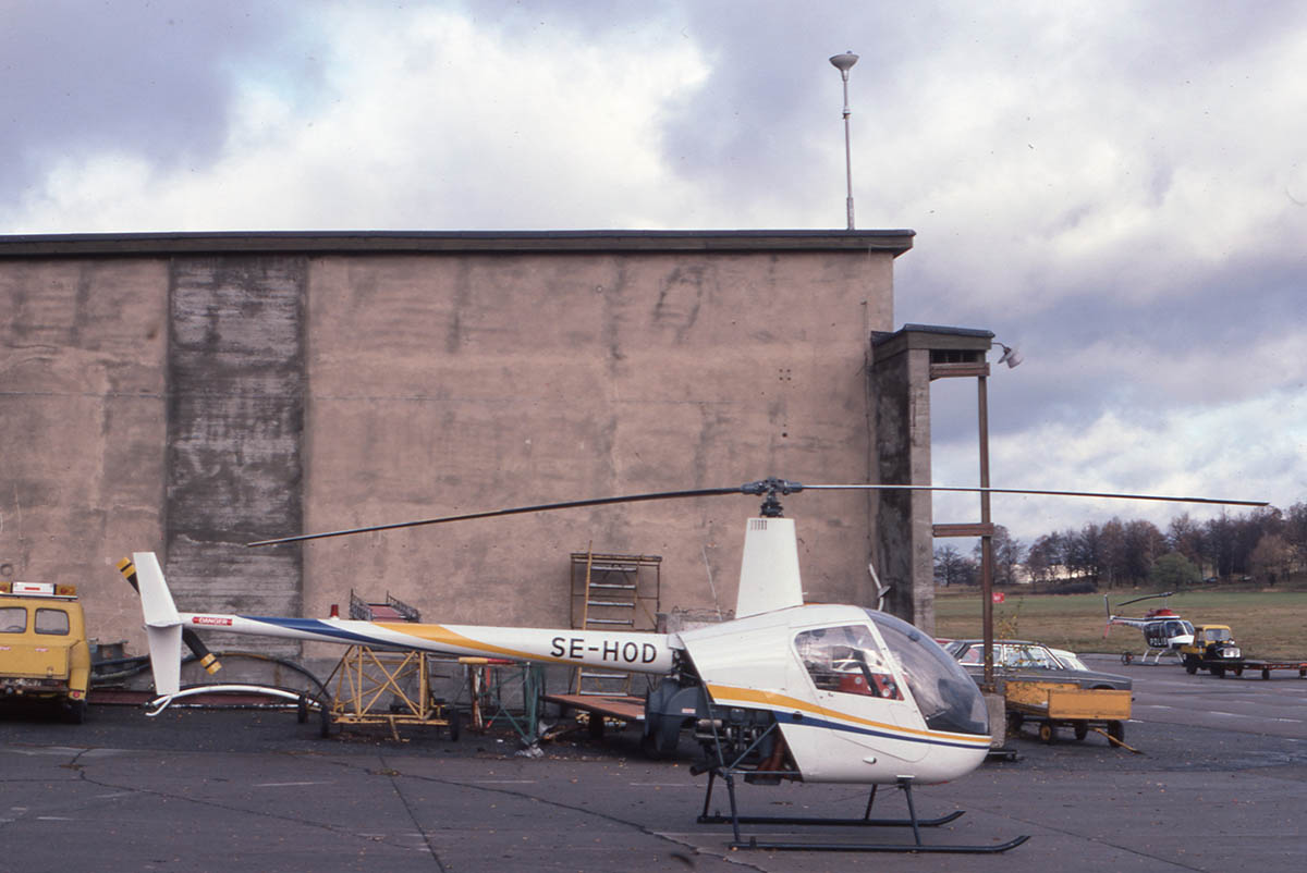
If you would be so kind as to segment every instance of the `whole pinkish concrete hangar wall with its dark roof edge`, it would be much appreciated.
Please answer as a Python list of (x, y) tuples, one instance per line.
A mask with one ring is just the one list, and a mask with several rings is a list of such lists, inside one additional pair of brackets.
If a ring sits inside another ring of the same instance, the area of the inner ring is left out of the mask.
[[(0, 575), (114, 570), (183, 609), (566, 626), (570, 553), (659, 554), (664, 610), (729, 609), (757, 501), (637, 503), (247, 549), (256, 538), (782, 476), (864, 482), (869, 337), (911, 231), (0, 238)], [(812, 600), (869, 602), (874, 498), (791, 497)], [(907, 583), (911, 585), (911, 583)]]

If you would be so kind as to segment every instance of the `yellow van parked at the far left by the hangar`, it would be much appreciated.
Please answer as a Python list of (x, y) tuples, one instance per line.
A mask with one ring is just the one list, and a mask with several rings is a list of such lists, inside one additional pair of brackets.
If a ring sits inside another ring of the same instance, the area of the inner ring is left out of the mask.
[(89, 684), (90, 647), (77, 589), (0, 582), (0, 702), (51, 700), (80, 724)]

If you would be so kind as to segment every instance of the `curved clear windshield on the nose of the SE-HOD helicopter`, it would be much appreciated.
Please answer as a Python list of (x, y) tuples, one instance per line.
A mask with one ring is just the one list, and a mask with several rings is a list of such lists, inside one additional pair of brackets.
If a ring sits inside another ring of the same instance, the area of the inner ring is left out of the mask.
[(925, 724), (935, 731), (989, 733), (980, 689), (940, 646), (906, 621), (868, 609), (867, 614), (898, 659)]

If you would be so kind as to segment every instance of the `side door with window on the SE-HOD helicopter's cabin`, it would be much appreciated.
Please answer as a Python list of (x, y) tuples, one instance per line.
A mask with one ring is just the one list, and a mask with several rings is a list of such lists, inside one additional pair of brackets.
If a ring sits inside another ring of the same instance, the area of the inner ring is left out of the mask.
[(784, 727), (805, 774), (856, 782), (925, 754), (911, 738), (925, 724), (870, 625), (799, 631), (793, 651), (791, 687), (808, 689), (816, 703)]

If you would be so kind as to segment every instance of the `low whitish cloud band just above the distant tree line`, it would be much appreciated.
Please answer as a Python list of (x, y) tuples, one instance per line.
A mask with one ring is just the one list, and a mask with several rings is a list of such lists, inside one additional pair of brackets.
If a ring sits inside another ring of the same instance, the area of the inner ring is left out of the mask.
[[(1265, 427), (1264, 422), (1276, 422)], [(1082, 426), (1063, 422), (992, 438), (991, 485), (1072, 491), (1269, 501), (1287, 508), (1307, 494), (1307, 399), (1295, 391), (1221, 405), (1185, 406), (1138, 421), (1106, 413)], [(935, 446), (936, 485), (976, 484), (975, 440)], [(940, 495), (937, 521), (979, 520), (974, 495)], [(1146, 519), (1163, 531), (1183, 512), (1218, 515), (1208, 504), (995, 495), (993, 520), (1027, 545), (1035, 537), (1114, 516)], [(1227, 507), (1243, 514), (1248, 507)]]

